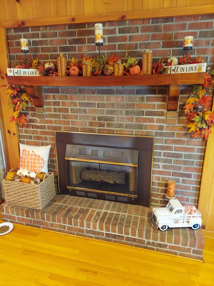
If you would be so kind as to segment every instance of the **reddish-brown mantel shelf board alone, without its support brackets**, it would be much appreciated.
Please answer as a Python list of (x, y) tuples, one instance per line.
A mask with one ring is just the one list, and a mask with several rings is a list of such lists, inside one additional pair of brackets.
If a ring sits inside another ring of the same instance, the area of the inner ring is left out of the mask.
[[(44, 86), (140, 86), (204, 83), (205, 73), (149, 74), (138, 76), (8, 76), (8, 83)], [(178, 88), (178, 87), (177, 87)]]

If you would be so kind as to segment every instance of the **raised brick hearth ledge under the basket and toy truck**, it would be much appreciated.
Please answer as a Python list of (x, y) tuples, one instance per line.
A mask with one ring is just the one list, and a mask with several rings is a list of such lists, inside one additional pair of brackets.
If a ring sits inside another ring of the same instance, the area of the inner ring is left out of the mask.
[(158, 231), (150, 208), (68, 195), (56, 195), (43, 210), (0, 207), (5, 221), (202, 259), (201, 228)]

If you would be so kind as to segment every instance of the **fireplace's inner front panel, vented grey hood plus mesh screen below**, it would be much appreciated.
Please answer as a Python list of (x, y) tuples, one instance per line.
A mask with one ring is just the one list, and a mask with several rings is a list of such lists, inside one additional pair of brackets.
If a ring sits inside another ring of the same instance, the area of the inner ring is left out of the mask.
[(138, 150), (67, 145), (67, 189), (137, 197)]

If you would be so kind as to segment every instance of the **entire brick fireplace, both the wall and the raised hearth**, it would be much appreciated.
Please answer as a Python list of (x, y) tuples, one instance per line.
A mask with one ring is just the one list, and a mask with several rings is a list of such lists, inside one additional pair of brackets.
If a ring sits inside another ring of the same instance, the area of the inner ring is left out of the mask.
[[(152, 49), (154, 61), (183, 55), (183, 37), (194, 36), (190, 54), (201, 55), (213, 68), (213, 15), (106, 22), (101, 53), (116, 52), (122, 61)], [(54, 62), (60, 52), (68, 59), (82, 54), (97, 56), (94, 24), (72, 24), (7, 29), (10, 62), (21, 61), (19, 38), (27, 38), (30, 56)], [(186, 133), (183, 103), (188, 86), (181, 87), (177, 111), (167, 111), (168, 86), (147, 87), (43, 87), (44, 108), (27, 107), (27, 126), (19, 127), (20, 142), (51, 144), (49, 170), (57, 161), (54, 131), (154, 137), (151, 205), (165, 206), (167, 180), (176, 180), (176, 198), (183, 205), (197, 206), (206, 142)], [(204, 247), (201, 229), (169, 229), (159, 233), (151, 227), (149, 208), (57, 195), (42, 211), (6, 203), (2, 218), (26, 225), (91, 236), (153, 250), (201, 259)], [(116, 223), (117, 222), (117, 223)], [(132, 230), (133, 229), (133, 230)]]

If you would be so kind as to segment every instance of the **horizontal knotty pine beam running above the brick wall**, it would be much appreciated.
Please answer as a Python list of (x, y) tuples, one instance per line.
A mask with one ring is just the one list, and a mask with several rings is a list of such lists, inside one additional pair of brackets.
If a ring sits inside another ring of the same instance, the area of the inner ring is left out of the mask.
[(206, 15), (213, 13), (213, 4), (191, 6), (186, 9), (185, 7), (154, 9), (154, 10), (140, 10), (140, 11), (126, 11), (114, 13), (102, 13), (91, 15), (71, 15), (70, 17), (53, 17), (44, 19), (28, 19), (28, 20), (11, 20), (2, 21), (3, 28), (15, 27), (34, 27), (34, 26), (48, 26), (60, 24), (79, 24), (94, 22), (107, 22), (107, 21), (121, 21), (121, 20), (134, 20), (134, 19), (151, 19), (163, 17), (176, 17), (176, 16), (189, 16), (189, 15)]

